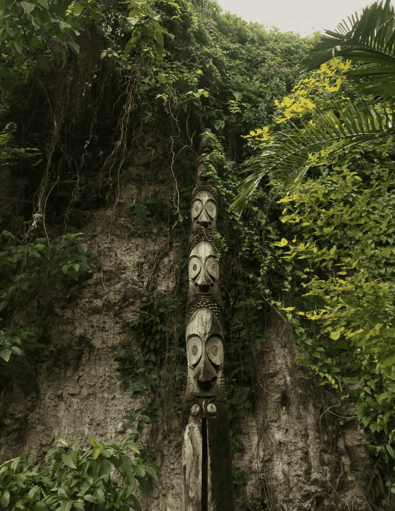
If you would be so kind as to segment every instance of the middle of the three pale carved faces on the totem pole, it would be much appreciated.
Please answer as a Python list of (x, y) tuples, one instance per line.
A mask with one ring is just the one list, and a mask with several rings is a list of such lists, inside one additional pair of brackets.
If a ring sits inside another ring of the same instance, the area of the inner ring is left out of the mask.
[(192, 294), (217, 290), (215, 283), (220, 276), (220, 268), (216, 258), (216, 249), (207, 241), (201, 241), (192, 248), (188, 266), (189, 290)]

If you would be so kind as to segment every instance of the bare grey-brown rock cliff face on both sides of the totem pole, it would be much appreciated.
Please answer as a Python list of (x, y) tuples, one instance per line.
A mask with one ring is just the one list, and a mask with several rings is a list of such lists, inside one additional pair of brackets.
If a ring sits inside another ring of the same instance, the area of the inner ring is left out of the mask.
[[(152, 191), (172, 200), (170, 164), (163, 148), (154, 153), (159, 156), (154, 160), (152, 150), (133, 155), (115, 205), (89, 212), (80, 226), (86, 243), (106, 261), (102, 271), (37, 298), (37, 309), (51, 303), (63, 323), (53, 328), (53, 349), (37, 361), (35, 378), (22, 375), (1, 393), (0, 462), (32, 450), (32, 460), (42, 462), (59, 437), (81, 436), (87, 442), (95, 436), (115, 443), (133, 432), (133, 426), (125, 430), (122, 417), (132, 407), (141, 413), (146, 398), (130, 399), (116, 380), (112, 355), (120, 344), (139, 351), (130, 322), (138, 318), (147, 289), (169, 295), (179, 271), (169, 225), (153, 221), (142, 229), (136, 215), (125, 210)], [(262, 317), (262, 323), (267, 342), (253, 354), (255, 403), (232, 423), (240, 446), (232, 462), (240, 483), (235, 485), (236, 509), (365, 509), (362, 432), (356, 421), (345, 422), (342, 416), (352, 405), (338, 402), (310, 370), (293, 364), (299, 348), (287, 323), (276, 316)], [(159, 482), (149, 483), (142, 503), (146, 511), (180, 509), (181, 436), (181, 412), (146, 427), (143, 445), (152, 449), (160, 467)]]

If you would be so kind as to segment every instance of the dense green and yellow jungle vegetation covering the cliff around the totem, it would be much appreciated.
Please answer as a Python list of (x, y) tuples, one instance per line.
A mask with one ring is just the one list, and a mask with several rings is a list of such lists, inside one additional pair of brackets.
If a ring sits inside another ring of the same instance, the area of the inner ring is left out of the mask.
[[(389, 2), (383, 13), (385, 21)], [(392, 55), (393, 42), (386, 43), (393, 25), (385, 27), (382, 47), (372, 44)], [(81, 226), (91, 211), (117, 203), (128, 159), (151, 138), (170, 148), (175, 191), (141, 198), (130, 214), (143, 230), (155, 218), (172, 227), (181, 270), (170, 296), (147, 285), (140, 318), (131, 324), (141, 354), (119, 346), (114, 359), (132, 396), (157, 394), (138, 431), (169, 407), (182, 407), (190, 190), (200, 134), (211, 128), (233, 427), (238, 410), (254, 403), (252, 347), (265, 342), (266, 318), (277, 314), (291, 323), (305, 352), (295, 362), (336, 389), (339, 400), (355, 402), (374, 467), (369, 505), (383, 496), (390, 502), (395, 152), (388, 90), (364, 90), (361, 97), (366, 77), (361, 64), (345, 58), (353, 55), (330, 54), (301, 75), (318, 35), (267, 31), (210, 0), (0, 0), (0, 40), (2, 387), (22, 369), (34, 371), (51, 346), (51, 327), (61, 321), (38, 311), (32, 298), (51, 282), (66, 286), (104, 264), (83, 243)], [(133, 423), (134, 410), (124, 418)], [(144, 493), (144, 478), (156, 475), (137, 441), (135, 435), (102, 446), (93, 439), (89, 450), (70, 451), (63, 440), (48, 454), (52, 472), (24, 465), (28, 455), (7, 462), (0, 502), (9, 509), (16, 502), (27, 509), (115, 503), (138, 509), (132, 481)], [(128, 446), (133, 464), (124, 454)], [(126, 481), (118, 490), (109, 482), (111, 463)], [(78, 499), (71, 483), (77, 466), (84, 496)], [(30, 491), (15, 474), (34, 481), (25, 485)], [(56, 485), (63, 493), (55, 498)]]

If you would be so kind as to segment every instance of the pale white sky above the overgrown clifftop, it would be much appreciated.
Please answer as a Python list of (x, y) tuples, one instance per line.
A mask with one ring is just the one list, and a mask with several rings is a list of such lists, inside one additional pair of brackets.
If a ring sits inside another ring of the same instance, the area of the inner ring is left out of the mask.
[[(278, 28), (280, 32), (299, 33), (301, 37), (317, 30), (334, 30), (343, 19), (360, 14), (361, 7), (373, 0), (217, 0), (224, 11), (252, 21)], [(392, 2), (393, 3), (393, 2)]]

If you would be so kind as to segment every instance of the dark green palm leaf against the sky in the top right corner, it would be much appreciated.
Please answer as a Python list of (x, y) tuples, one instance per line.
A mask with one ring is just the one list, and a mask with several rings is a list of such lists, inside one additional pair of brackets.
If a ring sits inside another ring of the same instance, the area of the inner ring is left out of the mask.
[(303, 72), (312, 71), (334, 58), (364, 62), (365, 66), (349, 69), (348, 78), (375, 80), (357, 86), (360, 92), (395, 96), (395, 11), (391, 0), (365, 7), (361, 16), (348, 17), (337, 31), (325, 30), (313, 52), (301, 64)]

